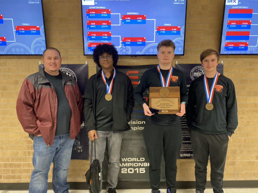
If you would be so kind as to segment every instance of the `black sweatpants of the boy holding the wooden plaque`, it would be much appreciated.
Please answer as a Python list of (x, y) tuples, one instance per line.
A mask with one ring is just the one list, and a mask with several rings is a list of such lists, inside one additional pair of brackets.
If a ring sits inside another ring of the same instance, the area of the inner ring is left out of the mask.
[(150, 160), (150, 188), (153, 190), (160, 188), (160, 166), (164, 154), (167, 187), (176, 190), (177, 155), (182, 145), (180, 122), (173, 125), (159, 125), (146, 120), (143, 138)]

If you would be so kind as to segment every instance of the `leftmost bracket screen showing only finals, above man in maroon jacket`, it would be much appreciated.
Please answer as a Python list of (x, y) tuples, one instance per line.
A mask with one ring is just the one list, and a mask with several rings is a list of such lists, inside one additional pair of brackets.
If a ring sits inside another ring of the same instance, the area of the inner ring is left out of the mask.
[(42, 55), (45, 49), (42, 0), (1, 0), (0, 55)]

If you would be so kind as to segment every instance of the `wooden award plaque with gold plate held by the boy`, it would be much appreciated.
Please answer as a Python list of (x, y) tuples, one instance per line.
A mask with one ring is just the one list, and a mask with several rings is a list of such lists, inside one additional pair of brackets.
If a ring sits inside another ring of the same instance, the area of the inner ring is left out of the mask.
[(180, 113), (180, 88), (150, 87), (149, 107), (159, 110), (158, 114)]

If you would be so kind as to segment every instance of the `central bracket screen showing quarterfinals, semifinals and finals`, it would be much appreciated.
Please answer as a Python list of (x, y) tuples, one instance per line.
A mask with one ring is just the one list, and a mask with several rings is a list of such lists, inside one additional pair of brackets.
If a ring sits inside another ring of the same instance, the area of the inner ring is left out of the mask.
[(114, 44), (120, 55), (156, 55), (171, 39), (184, 55), (187, 0), (82, 0), (84, 55)]

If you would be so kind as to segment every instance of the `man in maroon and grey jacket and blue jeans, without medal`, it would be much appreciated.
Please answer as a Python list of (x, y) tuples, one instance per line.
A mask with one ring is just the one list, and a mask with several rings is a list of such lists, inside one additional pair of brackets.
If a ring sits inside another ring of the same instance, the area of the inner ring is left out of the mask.
[(62, 58), (57, 49), (46, 49), (42, 61), (44, 69), (22, 83), (16, 105), (21, 126), (33, 139), (29, 192), (47, 192), (52, 162), (54, 192), (68, 192), (67, 173), (81, 126), (83, 100), (73, 77), (59, 70)]

